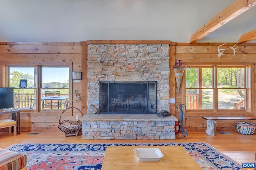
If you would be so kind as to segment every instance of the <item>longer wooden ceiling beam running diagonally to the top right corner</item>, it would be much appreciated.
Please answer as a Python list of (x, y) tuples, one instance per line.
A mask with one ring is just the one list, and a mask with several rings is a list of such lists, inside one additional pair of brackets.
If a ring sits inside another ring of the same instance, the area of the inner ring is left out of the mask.
[(217, 16), (208, 21), (200, 29), (190, 36), (189, 43), (196, 43), (212, 31), (218, 29), (228, 21), (236, 18), (243, 12), (249, 10), (256, 5), (256, 0), (236, 0), (230, 6), (225, 8)]

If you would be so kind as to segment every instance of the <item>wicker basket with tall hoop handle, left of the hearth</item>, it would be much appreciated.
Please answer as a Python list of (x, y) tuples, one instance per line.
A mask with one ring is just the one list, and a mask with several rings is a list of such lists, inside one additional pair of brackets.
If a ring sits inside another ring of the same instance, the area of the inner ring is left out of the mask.
[(77, 109), (81, 115), (83, 116), (83, 113), (80, 111), (80, 109), (76, 107), (68, 107), (66, 110), (64, 110), (60, 115), (60, 120), (58, 128), (65, 133), (65, 137), (67, 136), (78, 136), (79, 131), (82, 129), (82, 123), (80, 120), (78, 121), (70, 121), (70, 120), (63, 120), (61, 121), (61, 117), (65, 111), (68, 109)]

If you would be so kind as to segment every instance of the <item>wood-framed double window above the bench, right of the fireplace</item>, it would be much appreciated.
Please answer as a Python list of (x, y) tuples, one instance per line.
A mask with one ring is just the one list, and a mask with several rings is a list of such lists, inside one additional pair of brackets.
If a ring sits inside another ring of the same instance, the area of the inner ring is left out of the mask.
[(246, 66), (186, 68), (187, 109), (246, 109)]

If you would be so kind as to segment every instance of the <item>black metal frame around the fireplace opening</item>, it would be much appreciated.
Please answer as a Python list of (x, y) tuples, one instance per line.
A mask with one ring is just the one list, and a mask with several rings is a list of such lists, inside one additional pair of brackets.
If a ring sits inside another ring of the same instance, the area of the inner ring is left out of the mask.
[[(108, 111), (107, 112), (101, 112), (101, 86), (102, 84), (107, 84), (107, 88), (108, 88), (108, 94), (107, 94), (107, 104), (108, 104)], [(146, 94), (146, 102), (145, 104), (147, 105), (147, 107), (145, 107), (145, 111), (143, 111), (143, 113), (147, 113), (147, 114), (156, 114), (157, 113), (157, 82), (156, 81), (100, 81), (99, 82), (99, 114), (102, 113), (102, 114), (106, 114), (106, 113), (116, 113), (116, 112), (111, 112), (110, 111), (110, 84), (146, 84), (146, 91), (147, 91), (147, 94)], [(155, 96), (156, 96), (156, 99), (155, 99), (155, 103), (154, 103), (154, 106), (155, 106), (155, 112), (150, 112), (148, 111), (148, 93), (149, 93), (149, 90), (148, 90), (148, 87), (149, 87), (149, 84), (155, 84)], [(131, 113), (131, 112), (121, 112), (120, 114), (122, 113)], [(135, 113), (135, 114), (141, 114), (141, 112), (132, 112), (132, 113)]]

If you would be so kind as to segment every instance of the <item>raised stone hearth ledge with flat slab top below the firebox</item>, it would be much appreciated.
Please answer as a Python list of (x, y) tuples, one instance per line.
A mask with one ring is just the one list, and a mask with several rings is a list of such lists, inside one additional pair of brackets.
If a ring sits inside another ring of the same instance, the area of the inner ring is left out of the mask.
[(82, 121), (82, 139), (175, 139), (173, 115), (86, 114)]

